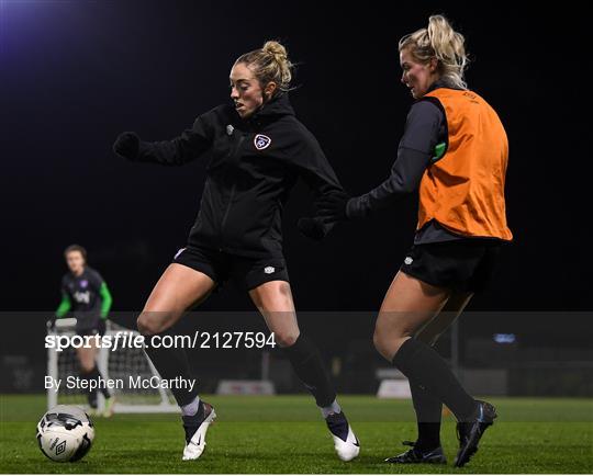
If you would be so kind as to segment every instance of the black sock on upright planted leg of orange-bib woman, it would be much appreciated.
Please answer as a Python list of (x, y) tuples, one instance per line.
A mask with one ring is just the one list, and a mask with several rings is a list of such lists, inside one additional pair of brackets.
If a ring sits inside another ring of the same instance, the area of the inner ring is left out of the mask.
[(410, 382), (410, 390), (418, 426), (418, 439), (415, 447), (421, 451), (434, 450), (440, 446), (443, 404), (419, 384)]

